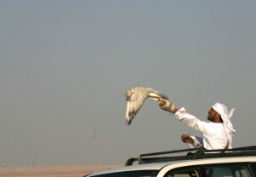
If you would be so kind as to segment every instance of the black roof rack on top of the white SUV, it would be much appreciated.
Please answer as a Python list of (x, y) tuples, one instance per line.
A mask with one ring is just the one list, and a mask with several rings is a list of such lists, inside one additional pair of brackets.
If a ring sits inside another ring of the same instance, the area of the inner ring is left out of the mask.
[[(187, 152), (183, 156), (177, 156), (177, 153)], [(214, 153), (218, 152), (218, 153)], [(224, 153), (225, 152), (225, 153)], [(174, 154), (172, 157), (161, 156), (166, 154)], [(244, 157), (244, 156), (256, 156), (256, 146), (245, 146), (237, 147), (233, 149), (222, 149), (222, 150), (207, 150), (205, 148), (194, 148), (194, 149), (183, 149), (176, 151), (160, 151), (148, 154), (141, 154), (137, 158), (130, 158), (126, 161), (125, 166), (131, 166), (134, 162), (138, 164), (144, 163), (160, 163), (170, 162), (177, 160), (193, 160), (202, 158), (215, 158), (215, 157)]]

